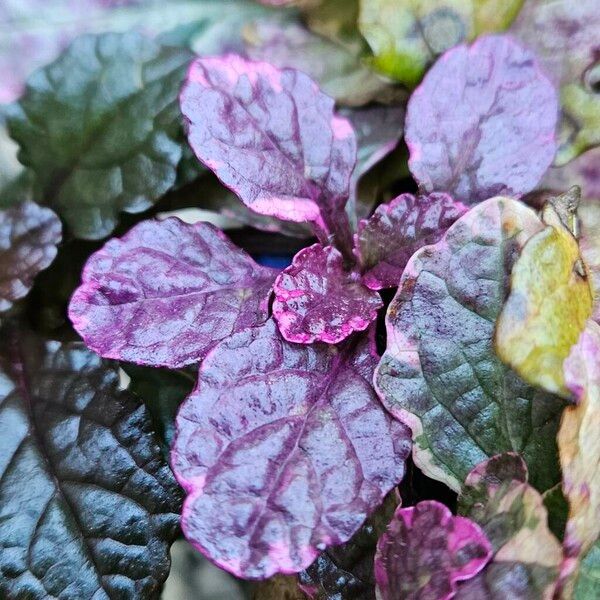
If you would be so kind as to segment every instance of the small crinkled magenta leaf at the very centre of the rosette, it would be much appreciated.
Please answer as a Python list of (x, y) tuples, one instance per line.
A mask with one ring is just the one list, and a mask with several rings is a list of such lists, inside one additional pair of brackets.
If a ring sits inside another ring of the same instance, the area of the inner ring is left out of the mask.
[(332, 246), (314, 244), (296, 254), (275, 280), (273, 316), (283, 337), (300, 344), (337, 344), (363, 331), (383, 302), (360, 276), (344, 269)]

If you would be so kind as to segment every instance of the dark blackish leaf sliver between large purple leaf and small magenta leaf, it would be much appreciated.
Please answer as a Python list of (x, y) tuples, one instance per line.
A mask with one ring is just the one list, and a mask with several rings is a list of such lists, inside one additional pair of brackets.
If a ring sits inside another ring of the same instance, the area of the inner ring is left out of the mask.
[(352, 539), (328, 548), (298, 574), (300, 587), (311, 600), (375, 600), (373, 559), (377, 540), (399, 501), (399, 494), (390, 492)]

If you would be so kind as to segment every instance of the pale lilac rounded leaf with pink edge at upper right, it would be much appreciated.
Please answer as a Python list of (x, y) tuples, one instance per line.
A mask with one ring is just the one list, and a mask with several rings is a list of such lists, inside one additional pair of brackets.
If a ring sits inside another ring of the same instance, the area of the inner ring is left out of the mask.
[(446, 52), (413, 93), (409, 168), (422, 189), (473, 204), (535, 188), (556, 151), (556, 91), (509, 36)]

